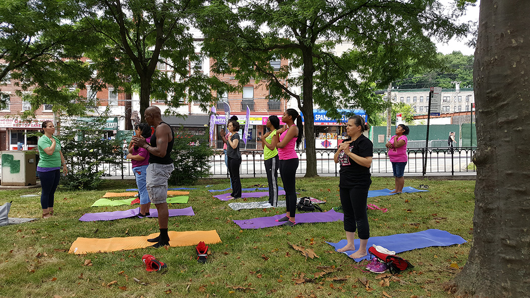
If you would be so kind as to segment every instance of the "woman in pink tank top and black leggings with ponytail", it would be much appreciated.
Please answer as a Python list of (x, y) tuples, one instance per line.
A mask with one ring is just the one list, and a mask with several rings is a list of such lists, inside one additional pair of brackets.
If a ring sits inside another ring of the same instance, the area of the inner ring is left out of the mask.
[[(295, 125), (295, 120), (297, 124)], [(302, 117), (294, 109), (287, 109), (281, 118), (286, 125), (278, 130), (272, 139), (272, 145), (278, 148), (280, 158), (280, 175), (284, 183), (285, 203), (287, 205), (286, 216), (276, 221), (285, 221), (284, 225), (293, 226), (296, 214), (296, 169), (298, 169), (298, 155), (296, 148), (304, 138), (304, 127)]]

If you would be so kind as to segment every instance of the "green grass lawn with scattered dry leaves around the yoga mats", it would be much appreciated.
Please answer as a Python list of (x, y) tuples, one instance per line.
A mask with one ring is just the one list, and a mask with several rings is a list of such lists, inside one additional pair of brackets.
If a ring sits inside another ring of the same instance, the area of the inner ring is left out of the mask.
[[(267, 184), (266, 178), (242, 179), (243, 187)], [(206, 185), (213, 187), (205, 188)], [(280, 180), (281, 184), (281, 180)], [(427, 229), (447, 230), (472, 240), (474, 181), (407, 179), (405, 186), (429, 185), (429, 192), (368, 198), (368, 203), (388, 212), (368, 210), (371, 236), (410, 233)], [(392, 189), (393, 178), (373, 178), (370, 189)], [(131, 206), (90, 207), (105, 192), (136, 188), (134, 180), (108, 180), (93, 191), (55, 195), (55, 213), (50, 219), (0, 228), (1, 297), (452, 297), (442, 283), (464, 266), (470, 243), (451, 247), (431, 247), (403, 252), (401, 257), (415, 267), (396, 275), (385, 285), (384, 278), (363, 272), (367, 261), (355, 263), (345, 254), (333, 251), (324, 241), (345, 239), (342, 222), (299, 224), (293, 228), (241, 230), (232, 220), (272, 216), (285, 209), (233, 211), (229, 202), (212, 197), (207, 189), (223, 189), (228, 179), (206, 179), (190, 191), (188, 204), (195, 216), (176, 216), (170, 230), (217, 230), (222, 243), (210, 245), (212, 255), (206, 264), (196, 260), (195, 247), (137, 249), (110, 253), (73, 255), (68, 249), (77, 237), (110, 238), (145, 236), (157, 232), (157, 219), (121, 219), (80, 222), (84, 213), (117, 211)], [(340, 205), (338, 178), (297, 179), (299, 196), (327, 201), (323, 209)], [(11, 217), (41, 216), (40, 189), (0, 191), (0, 203), (13, 201)], [(216, 193), (220, 194), (220, 193)], [(281, 199), (284, 196), (280, 196)], [(266, 198), (249, 198), (264, 201)], [(138, 205), (135, 205), (135, 207)], [(314, 250), (319, 258), (305, 258), (290, 245)], [(65, 251), (66, 250), (66, 251)], [(154, 255), (168, 269), (146, 272), (142, 256)], [(85, 260), (92, 266), (85, 266)], [(293, 279), (313, 278), (321, 266), (334, 266), (329, 273), (311, 282), (297, 284)], [(362, 269), (362, 270), (361, 270)], [(120, 272), (122, 272), (120, 274)], [(136, 283), (133, 278), (145, 284)], [(366, 278), (369, 287), (358, 279)], [(388, 279), (388, 278), (387, 278)], [(116, 281), (108, 286), (109, 283)], [(401, 282), (399, 282), (401, 281)], [(386, 295), (385, 295), (386, 294)]]

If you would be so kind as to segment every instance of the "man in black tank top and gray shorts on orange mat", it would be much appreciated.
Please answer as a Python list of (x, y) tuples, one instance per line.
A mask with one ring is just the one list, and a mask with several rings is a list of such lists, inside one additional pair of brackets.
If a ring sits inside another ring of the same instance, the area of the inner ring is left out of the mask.
[(151, 142), (147, 143), (142, 136), (133, 137), (133, 142), (149, 152), (149, 166), (147, 166), (147, 193), (149, 200), (155, 204), (158, 211), (158, 227), (160, 235), (149, 242), (156, 242), (152, 247), (169, 246), (167, 234), (167, 221), (169, 211), (167, 209), (167, 179), (175, 169), (171, 159), (171, 150), (175, 134), (169, 124), (162, 121), (160, 109), (150, 106), (145, 110), (144, 118), (147, 124), (155, 128)]

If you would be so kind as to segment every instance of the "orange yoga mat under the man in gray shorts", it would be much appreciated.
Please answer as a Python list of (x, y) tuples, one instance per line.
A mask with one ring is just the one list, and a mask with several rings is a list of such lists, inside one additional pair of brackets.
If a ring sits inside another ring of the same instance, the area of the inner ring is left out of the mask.
[[(169, 231), (170, 246), (193, 246), (204, 241), (206, 244), (222, 242), (216, 230), (211, 231)], [(158, 233), (149, 236), (138, 237), (116, 237), (116, 238), (82, 238), (79, 237), (72, 243), (69, 254), (83, 255), (89, 252), (110, 252), (118, 250), (130, 250), (137, 248), (146, 248), (154, 243), (147, 242), (147, 239), (158, 236)]]

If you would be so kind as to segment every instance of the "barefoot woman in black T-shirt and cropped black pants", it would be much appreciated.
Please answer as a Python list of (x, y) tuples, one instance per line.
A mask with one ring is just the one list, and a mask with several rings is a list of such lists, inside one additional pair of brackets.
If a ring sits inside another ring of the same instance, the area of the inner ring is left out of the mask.
[(355, 232), (358, 230), (360, 247), (350, 255), (351, 258), (366, 256), (366, 245), (370, 238), (366, 200), (368, 189), (372, 184), (370, 165), (374, 145), (366, 138), (363, 131), (368, 130), (363, 117), (352, 116), (348, 119), (346, 132), (350, 138), (342, 141), (333, 159), (340, 162), (340, 202), (344, 211), (344, 230), (348, 243), (337, 249), (338, 252), (355, 251)]

